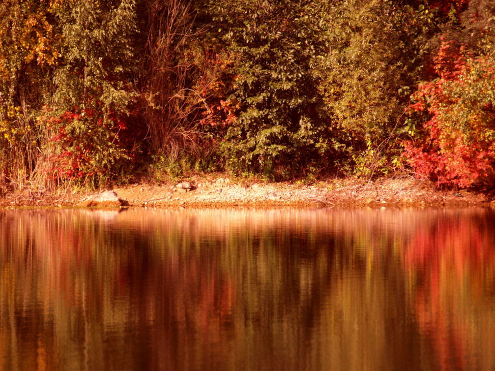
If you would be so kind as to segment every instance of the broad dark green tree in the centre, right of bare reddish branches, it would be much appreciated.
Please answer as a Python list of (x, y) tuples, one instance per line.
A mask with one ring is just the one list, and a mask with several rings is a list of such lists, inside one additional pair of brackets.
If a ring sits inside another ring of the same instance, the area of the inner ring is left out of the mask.
[(294, 171), (330, 149), (315, 67), (327, 52), (326, 2), (208, 3), (212, 29), (233, 60), (226, 91), (237, 105), (221, 151), (233, 168)]

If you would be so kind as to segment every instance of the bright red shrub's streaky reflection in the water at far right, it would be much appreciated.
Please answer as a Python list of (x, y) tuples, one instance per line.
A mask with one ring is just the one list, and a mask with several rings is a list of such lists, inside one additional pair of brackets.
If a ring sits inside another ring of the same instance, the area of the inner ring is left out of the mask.
[(494, 279), (489, 226), (455, 213), (435, 219), (429, 229), (417, 228), (403, 262), (419, 331), (435, 348), (441, 369), (451, 369), (452, 363), (465, 368), (467, 350), (476, 343), (472, 306), (482, 304), (486, 282)]

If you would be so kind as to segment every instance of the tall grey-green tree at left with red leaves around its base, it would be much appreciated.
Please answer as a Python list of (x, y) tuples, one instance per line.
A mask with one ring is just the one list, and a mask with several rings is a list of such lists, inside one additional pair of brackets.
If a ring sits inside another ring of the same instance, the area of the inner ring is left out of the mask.
[(135, 0), (83, 0), (56, 8), (62, 61), (43, 119), (51, 179), (101, 183), (115, 175), (128, 154), (120, 140), (137, 96), (133, 85)]

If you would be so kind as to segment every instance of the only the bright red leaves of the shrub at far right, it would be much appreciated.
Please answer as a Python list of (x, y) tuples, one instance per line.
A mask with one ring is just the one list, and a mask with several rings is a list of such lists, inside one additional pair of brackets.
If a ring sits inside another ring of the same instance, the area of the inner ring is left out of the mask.
[(410, 114), (422, 112), (428, 118), (423, 123), (426, 135), (405, 141), (403, 156), (417, 174), (434, 180), (439, 187), (468, 188), (495, 173), (495, 151), (486, 135), (489, 128), (470, 116), (467, 133), (453, 120), (452, 110), (460, 98), (449, 93), (455, 86), (471, 83), (470, 60), (473, 58), (462, 45), (443, 40), (434, 58), (438, 78), (420, 84), (412, 96), (414, 103), (407, 109)]

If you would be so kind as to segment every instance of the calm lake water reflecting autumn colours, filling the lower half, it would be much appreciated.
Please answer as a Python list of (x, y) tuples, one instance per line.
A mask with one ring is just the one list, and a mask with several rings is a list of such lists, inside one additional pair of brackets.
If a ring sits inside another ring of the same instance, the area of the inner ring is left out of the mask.
[(0, 210), (0, 369), (495, 369), (495, 213)]

